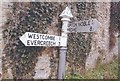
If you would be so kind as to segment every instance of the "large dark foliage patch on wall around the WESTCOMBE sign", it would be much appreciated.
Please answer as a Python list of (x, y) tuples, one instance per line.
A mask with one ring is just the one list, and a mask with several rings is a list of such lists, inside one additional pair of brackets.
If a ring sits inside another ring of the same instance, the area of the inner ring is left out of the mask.
[(56, 11), (57, 8), (53, 3), (15, 2), (11, 6), (10, 15), (7, 16), (7, 22), (3, 27), (3, 40), (6, 44), (3, 61), (9, 62), (14, 78), (32, 78), (35, 74), (38, 53), (43, 49), (43, 47), (26, 47), (19, 37), (25, 32), (46, 34), (46, 29), (53, 22)]

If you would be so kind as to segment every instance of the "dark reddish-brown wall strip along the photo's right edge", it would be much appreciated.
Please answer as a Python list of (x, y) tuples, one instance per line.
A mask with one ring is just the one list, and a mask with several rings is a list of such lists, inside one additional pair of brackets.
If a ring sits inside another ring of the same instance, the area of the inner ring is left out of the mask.
[(117, 58), (118, 56), (118, 37), (120, 32), (120, 2), (112, 2), (110, 11), (110, 27), (109, 27), (109, 49), (110, 54)]

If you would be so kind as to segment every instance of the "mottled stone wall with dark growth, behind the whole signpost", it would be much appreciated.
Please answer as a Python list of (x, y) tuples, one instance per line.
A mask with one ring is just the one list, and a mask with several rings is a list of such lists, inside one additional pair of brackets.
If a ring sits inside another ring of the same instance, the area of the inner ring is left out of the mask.
[(60, 35), (62, 23), (59, 15), (66, 6), (71, 6), (74, 16), (70, 23), (91, 18), (96, 18), (101, 23), (94, 33), (68, 34), (66, 74), (84, 73), (86, 69), (95, 68), (99, 63), (108, 63), (112, 60), (113, 52), (109, 52), (108, 42), (110, 3), (4, 3), (2, 9), (4, 17), (0, 16), (4, 18), (2, 24), (5, 20), (0, 26), (3, 29), (3, 33), (2, 31), (0, 33), (3, 34), (1, 38), (4, 42), (3, 47), (0, 47), (0, 49), (4, 48), (3, 70), (0, 71), (3, 72), (4, 79), (57, 78), (59, 47), (26, 47), (19, 37), (28, 31)]

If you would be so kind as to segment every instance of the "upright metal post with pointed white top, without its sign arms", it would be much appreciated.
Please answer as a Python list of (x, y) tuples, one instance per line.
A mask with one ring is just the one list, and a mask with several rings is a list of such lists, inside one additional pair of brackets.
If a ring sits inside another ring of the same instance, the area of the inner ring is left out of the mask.
[[(63, 17), (61, 19), (63, 22), (61, 36), (67, 38), (68, 23), (70, 21), (70, 18), (73, 17), (70, 8), (66, 7), (65, 10), (61, 13), (60, 17)], [(58, 79), (63, 79), (63, 77), (65, 76), (66, 52), (67, 52), (67, 44), (66, 47), (60, 48)]]

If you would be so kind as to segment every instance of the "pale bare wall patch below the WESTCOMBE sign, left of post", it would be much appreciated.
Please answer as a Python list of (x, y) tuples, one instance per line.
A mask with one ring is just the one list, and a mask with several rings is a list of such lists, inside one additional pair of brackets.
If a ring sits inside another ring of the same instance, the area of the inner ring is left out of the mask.
[(46, 79), (50, 76), (50, 57), (42, 55), (38, 57), (38, 62), (35, 67), (34, 79)]

